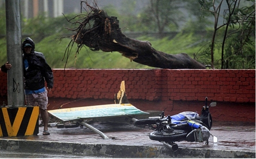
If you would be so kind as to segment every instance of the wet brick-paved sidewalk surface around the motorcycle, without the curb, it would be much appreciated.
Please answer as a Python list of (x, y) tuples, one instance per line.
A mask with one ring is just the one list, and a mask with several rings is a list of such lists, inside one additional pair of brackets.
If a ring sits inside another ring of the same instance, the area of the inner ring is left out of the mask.
[[(153, 130), (140, 128), (132, 124), (117, 124), (101, 122), (91, 124), (94, 128), (101, 130), (112, 140), (103, 140), (101, 136), (95, 134), (90, 129), (83, 128), (49, 128), (56, 136), (39, 136), (34, 140), (50, 140), (94, 144), (117, 144), (117, 145), (163, 145), (161, 142), (148, 138)], [(41, 128), (40, 128), (41, 129)], [(43, 132), (43, 130), (41, 130)], [(218, 142), (213, 144), (212, 137), (209, 138), (209, 145), (200, 142), (177, 142), (180, 148), (209, 148), (218, 150), (244, 150), (255, 152), (255, 124), (246, 122), (215, 122), (211, 133), (217, 136)], [(29, 137), (25, 137), (29, 138)]]

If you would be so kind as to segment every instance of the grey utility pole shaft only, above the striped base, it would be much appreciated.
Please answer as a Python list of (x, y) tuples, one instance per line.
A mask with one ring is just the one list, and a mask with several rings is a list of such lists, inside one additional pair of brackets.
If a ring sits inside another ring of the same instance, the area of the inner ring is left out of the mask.
[(7, 105), (24, 106), (20, 0), (5, 0), (5, 9), (7, 61), (12, 64), (7, 71)]

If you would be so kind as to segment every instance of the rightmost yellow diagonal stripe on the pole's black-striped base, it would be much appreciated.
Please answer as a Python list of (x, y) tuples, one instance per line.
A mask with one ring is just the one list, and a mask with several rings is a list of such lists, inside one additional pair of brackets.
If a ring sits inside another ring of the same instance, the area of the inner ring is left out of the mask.
[(28, 122), (28, 127), (26, 128), (25, 136), (29, 136), (34, 133), (38, 116), (39, 116), (39, 106), (34, 106)]

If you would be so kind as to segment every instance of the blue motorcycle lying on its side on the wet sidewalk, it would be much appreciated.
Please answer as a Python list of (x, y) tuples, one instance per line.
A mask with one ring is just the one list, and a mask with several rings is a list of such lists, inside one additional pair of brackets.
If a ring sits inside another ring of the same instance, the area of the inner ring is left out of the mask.
[[(206, 142), (209, 144), (209, 137), (212, 136), (212, 116), (209, 108), (216, 106), (216, 102), (207, 105), (208, 98), (205, 98), (205, 106), (201, 109), (199, 116), (196, 112), (182, 112), (174, 116), (165, 116), (164, 112), (160, 117), (150, 117), (148, 119), (136, 120), (133, 124), (151, 125), (156, 130), (150, 133), (150, 139), (163, 142), (167, 148), (173, 151), (178, 150), (175, 142)], [(217, 142), (217, 137), (213, 136), (213, 142)]]

